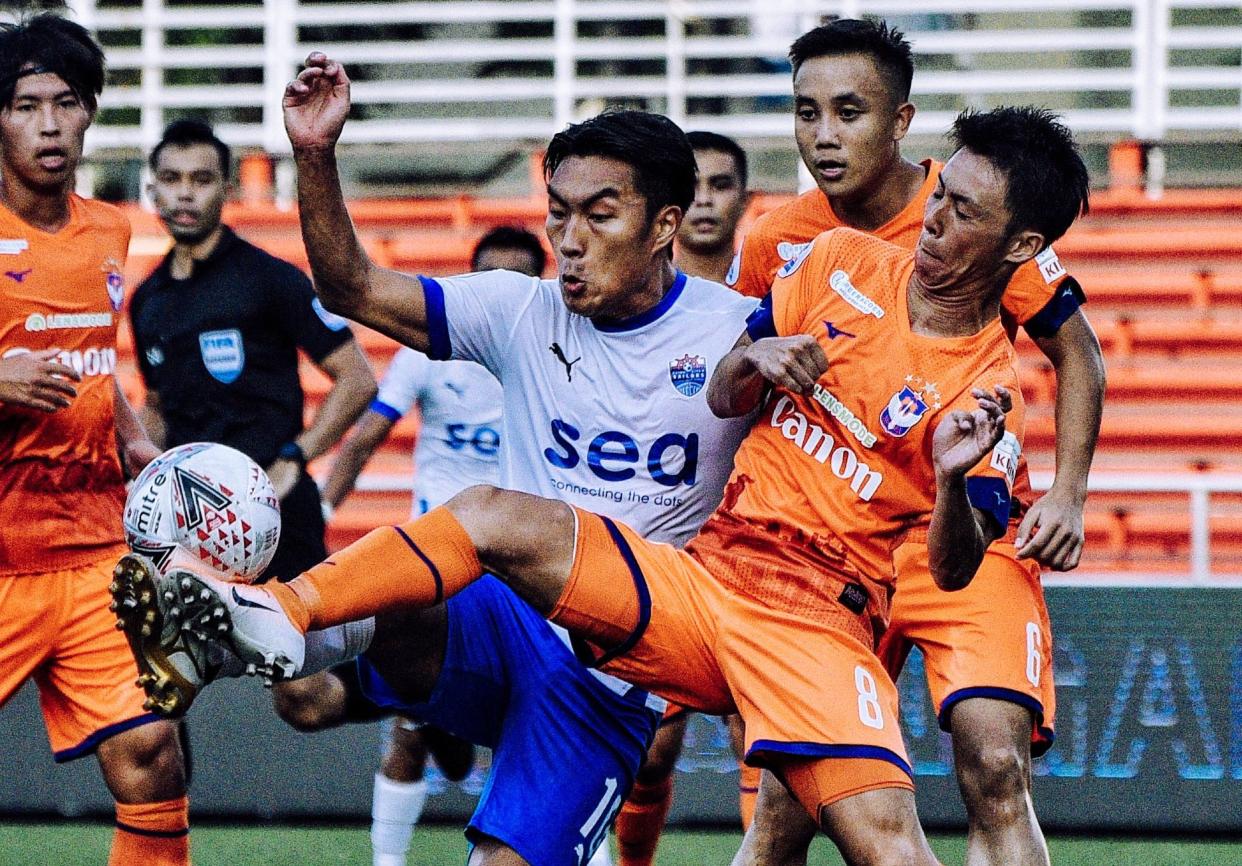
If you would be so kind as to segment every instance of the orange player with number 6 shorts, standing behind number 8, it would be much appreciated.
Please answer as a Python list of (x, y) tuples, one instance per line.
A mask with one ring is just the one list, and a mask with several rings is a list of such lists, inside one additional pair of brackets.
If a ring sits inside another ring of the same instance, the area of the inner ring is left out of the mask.
[[(795, 135), (816, 189), (761, 216), (746, 236), (735, 287), (756, 296), (768, 291), (786, 260), (835, 226), (913, 247), (943, 168), (930, 159), (910, 163), (900, 154), (914, 106), (910, 48), (898, 31), (873, 21), (838, 20), (801, 36), (790, 57)], [(1104, 374), (1081, 303), (1077, 282), (1052, 247), (1015, 272), (1002, 299), (1011, 333), (1022, 324), (1057, 370), (1052, 490), (1030, 506), (1026, 463), (1020, 461), (1018, 509), (968, 593), (935, 590), (922, 555), (925, 548), (917, 539), (897, 552), (898, 589), (882, 656), (895, 677), (912, 645), (924, 654), (941, 727), (954, 741), (971, 862), (1047, 862), (1031, 804), (1030, 764), (1032, 750), (1040, 754), (1051, 745), (1056, 697), (1052, 635), (1038, 570), (1030, 560), (1071, 569), (1082, 549), (1082, 507)], [(743, 862), (805, 860), (814, 825), (799, 820), (779, 785), (766, 784), (760, 801)]]

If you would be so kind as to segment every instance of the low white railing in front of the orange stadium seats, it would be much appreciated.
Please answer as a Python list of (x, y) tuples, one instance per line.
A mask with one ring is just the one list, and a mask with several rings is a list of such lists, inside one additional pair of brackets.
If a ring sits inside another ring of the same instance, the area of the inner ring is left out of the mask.
[[(1052, 485), (1052, 472), (1032, 472), (1031, 486), (1046, 491)], [(1058, 586), (1240, 586), (1242, 573), (1212, 568), (1211, 507), (1212, 496), (1242, 493), (1242, 473), (1112, 473), (1095, 472), (1088, 488), (1092, 493), (1185, 493), (1190, 509), (1190, 568), (1160, 572), (1090, 570), (1090, 550), (1084, 554), (1079, 570), (1058, 574), (1047, 572), (1046, 585)], [(409, 475), (365, 473), (359, 476), (358, 491), (399, 493), (411, 490)]]

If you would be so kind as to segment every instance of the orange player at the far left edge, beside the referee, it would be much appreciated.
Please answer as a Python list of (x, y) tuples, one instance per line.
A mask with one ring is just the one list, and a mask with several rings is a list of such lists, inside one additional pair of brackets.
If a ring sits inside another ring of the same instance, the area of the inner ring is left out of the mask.
[(34, 678), (56, 760), (98, 757), (112, 866), (173, 866), (189, 864), (176, 731), (145, 712), (108, 613), (122, 455), (135, 471), (158, 449), (114, 379), (129, 224), (72, 191), (102, 88), (81, 26), (0, 26), (0, 703)]

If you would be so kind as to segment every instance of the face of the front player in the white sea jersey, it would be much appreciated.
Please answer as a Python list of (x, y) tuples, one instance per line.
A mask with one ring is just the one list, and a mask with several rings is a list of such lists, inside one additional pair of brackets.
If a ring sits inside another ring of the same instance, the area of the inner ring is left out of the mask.
[(548, 240), (570, 312), (620, 319), (650, 306), (640, 292), (677, 232), (681, 210), (647, 217), (633, 168), (607, 157), (570, 157), (548, 181)]

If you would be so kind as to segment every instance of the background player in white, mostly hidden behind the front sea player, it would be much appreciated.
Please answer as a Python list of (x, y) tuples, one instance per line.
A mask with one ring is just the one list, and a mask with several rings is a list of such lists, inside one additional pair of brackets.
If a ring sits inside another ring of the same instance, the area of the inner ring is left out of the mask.
[[(472, 271), (544, 272), (548, 253), (525, 229), (499, 226), (483, 235)], [(323, 488), (329, 508), (354, 490), (358, 475), (392, 425), (415, 405), (421, 422), (414, 449), (411, 514), (425, 514), (471, 485), (499, 478), (501, 383), (478, 364), (437, 364), (414, 349), (394, 355), (380, 391), (342, 446)], [(328, 675), (322, 675), (328, 676)], [(451, 782), (473, 764), (474, 748), (450, 733), (395, 716), (381, 723), (384, 758), (371, 794), (373, 866), (405, 866), (414, 827), (427, 801), (428, 752)]]

